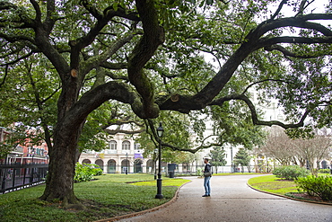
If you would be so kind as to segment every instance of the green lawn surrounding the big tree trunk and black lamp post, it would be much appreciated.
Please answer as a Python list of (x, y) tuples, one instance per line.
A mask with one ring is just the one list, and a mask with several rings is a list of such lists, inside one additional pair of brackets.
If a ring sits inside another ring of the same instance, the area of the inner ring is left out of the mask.
[[(74, 184), (74, 193), (86, 209), (63, 209), (58, 202), (38, 200), (45, 186), (0, 195), (0, 221), (95, 221), (144, 209), (152, 209), (173, 198), (178, 186), (187, 180), (163, 180), (164, 199), (154, 199), (156, 182), (149, 174), (106, 174), (92, 182)], [(150, 181), (151, 185), (135, 186)]]

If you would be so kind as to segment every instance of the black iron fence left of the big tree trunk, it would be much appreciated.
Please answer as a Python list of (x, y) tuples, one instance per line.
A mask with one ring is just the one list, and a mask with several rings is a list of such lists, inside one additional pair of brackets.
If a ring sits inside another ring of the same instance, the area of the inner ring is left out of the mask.
[(0, 164), (0, 193), (45, 182), (48, 164)]

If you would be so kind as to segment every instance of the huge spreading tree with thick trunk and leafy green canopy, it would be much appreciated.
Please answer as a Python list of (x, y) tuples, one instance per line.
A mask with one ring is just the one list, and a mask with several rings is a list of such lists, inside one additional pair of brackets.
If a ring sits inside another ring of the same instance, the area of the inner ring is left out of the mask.
[[(38, 113), (36, 124), (52, 133), (42, 200), (77, 202), (76, 148), (105, 102), (127, 104), (147, 122), (162, 111), (218, 107), (256, 125), (331, 125), (328, 1), (2, 0), (0, 11), (1, 109)], [(10, 92), (28, 88), (37, 105), (27, 93), (23, 106), (11, 102)], [(261, 100), (278, 99), (287, 123), (259, 120), (253, 88)], [(54, 125), (45, 118), (52, 111)]]

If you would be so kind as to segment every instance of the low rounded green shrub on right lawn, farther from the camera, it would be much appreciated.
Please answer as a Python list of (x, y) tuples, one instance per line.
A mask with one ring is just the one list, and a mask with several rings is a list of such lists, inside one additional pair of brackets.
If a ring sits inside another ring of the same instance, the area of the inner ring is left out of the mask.
[(305, 177), (309, 175), (309, 173), (310, 171), (298, 165), (285, 165), (275, 168), (275, 170), (273, 171), (273, 174), (276, 177), (292, 181), (299, 177)]

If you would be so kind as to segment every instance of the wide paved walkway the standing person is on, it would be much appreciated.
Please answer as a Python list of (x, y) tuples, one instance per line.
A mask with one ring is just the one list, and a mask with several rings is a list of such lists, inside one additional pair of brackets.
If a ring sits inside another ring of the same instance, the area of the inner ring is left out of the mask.
[(191, 177), (169, 206), (120, 221), (332, 221), (332, 206), (289, 200), (254, 191), (247, 181), (255, 175), (214, 176), (211, 197), (203, 198), (203, 179)]

